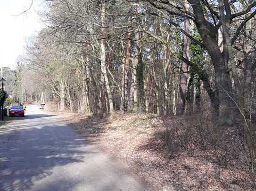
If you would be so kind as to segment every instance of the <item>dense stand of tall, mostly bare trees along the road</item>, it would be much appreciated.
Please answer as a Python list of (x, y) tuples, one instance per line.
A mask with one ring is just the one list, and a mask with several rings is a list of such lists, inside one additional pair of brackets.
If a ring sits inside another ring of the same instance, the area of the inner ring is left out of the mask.
[[(239, 131), (255, 178), (256, 1), (45, 0), (41, 6), (45, 28), (26, 39), (13, 71), (9, 92), (18, 102), (101, 118), (119, 112), (164, 122), (177, 116), (190, 123), (192, 116), (199, 123), (207, 115), (215, 132)], [(216, 145), (220, 134), (207, 133), (215, 139), (203, 142), (214, 148), (227, 141)]]

